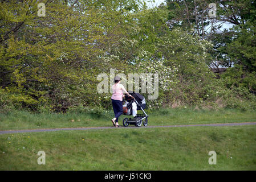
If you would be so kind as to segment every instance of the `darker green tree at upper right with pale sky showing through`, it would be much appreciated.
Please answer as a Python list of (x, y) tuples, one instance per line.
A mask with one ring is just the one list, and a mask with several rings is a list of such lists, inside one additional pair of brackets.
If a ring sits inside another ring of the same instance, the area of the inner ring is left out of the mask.
[[(192, 28), (194, 34), (211, 41), (214, 47), (208, 50), (212, 55), (212, 60), (208, 62), (210, 68), (242, 66), (244, 72), (242, 82), (246, 81), (247, 77), (253, 76), (254, 79), (255, 2), (250, 0), (214, 1), (217, 6), (216, 18), (207, 15), (210, 2), (168, 0), (170, 28), (177, 26)], [(220, 31), (226, 23), (232, 24), (233, 28)], [(243, 85), (247, 85), (251, 92), (255, 92), (253, 82)]]

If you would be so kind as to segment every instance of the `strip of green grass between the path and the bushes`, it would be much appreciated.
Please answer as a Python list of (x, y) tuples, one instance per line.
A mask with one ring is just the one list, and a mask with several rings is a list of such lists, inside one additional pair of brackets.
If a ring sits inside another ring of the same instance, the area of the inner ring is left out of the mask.
[[(241, 111), (193, 110), (193, 109), (161, 109), (147, 111), (149, 125), (186, 125), (199, 123), (255, 122), (256, 110)], [(48, 113), (36, 114), (28, 111), (12, 111), (0, 114), (0, 130), (42, 129), (60, 127), (112, 126), (112, 111), (96, 113)], [(127, 116), (131, 117), (131, 116)], [(125, 118), (121, 115), (119, 124)], [(74, 122), (71, 122), (74, 119)], [(80, 121), (79, 121), (80, 119)]]

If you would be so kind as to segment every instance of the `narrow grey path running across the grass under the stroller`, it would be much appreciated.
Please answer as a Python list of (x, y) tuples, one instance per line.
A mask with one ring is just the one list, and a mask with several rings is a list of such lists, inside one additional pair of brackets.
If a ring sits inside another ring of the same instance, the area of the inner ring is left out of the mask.
[(128, 127), (76, 127), (76, 128), (60, 128), (60, 129), (31, 129), (31, 130), (6, 130), (0, 131), (0, 134), (14, 134), (14, 133), (30, 133), (30, 132), (43, 132), (43, 131), (67, 131), (67, 130), (104, 130), (104, 129), (145, 129), (155, 127), (192, 127), (192, 126), (243, 126), (243, 125), (256, 125), (256, 122), (244, 123), (214, 123), (214, 124), (197, 124), (197, 125), (162, 125), (162, 126), (128, 126)]

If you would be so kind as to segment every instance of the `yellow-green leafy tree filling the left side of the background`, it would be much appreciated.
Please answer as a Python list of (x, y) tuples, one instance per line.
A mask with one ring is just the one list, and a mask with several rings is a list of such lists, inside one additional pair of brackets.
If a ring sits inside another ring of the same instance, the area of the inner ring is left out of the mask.
[(0, 86), (10, 100), (32, 110), (98, 104), (95, 77), (117, 63), (109, 47), (125, 36), (125, 16), (136, 9), (126, 1), (116, 11), (115, 2), (46, 1), (39, 17), (37, 1), (1, 1)]

